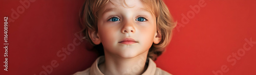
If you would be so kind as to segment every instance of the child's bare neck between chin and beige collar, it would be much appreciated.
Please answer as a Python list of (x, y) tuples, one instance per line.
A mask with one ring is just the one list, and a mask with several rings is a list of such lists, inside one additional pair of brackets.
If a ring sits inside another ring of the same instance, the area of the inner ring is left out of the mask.
[(105, 62), (99, 65), (103, 74), (142, 74), (146, 68), (148, 51), (134, 57), (122, 58), (105, 51)]

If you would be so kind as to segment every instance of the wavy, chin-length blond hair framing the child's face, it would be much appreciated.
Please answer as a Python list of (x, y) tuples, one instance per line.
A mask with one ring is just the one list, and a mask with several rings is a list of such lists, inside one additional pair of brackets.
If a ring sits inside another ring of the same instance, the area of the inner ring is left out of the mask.
[[(176, 26), (172, 16), (169, 13), (168, 8), (164, 4), (162, 0), (141, 0), (147, 5), (150, 6), (152, 13), (156, 16), (157, 22), (157, 31), (161, 34), (161, 41), (159, 44), (152, 44), (150, 50), (148, 51), (148, 57), (156, 60), (158, 56), (162, 54), (165, 50), (165, 47), (169, 44), (171, 37), (172, 37), (172, 30)], [(95, 30), (97, 29), (97, 21), (98, 21), (98, 11), (104, 7), (110, 0), (86, 0), (83, 4), (80, 16), (80, 22), (83, 27), (83, 33), (86, 37), (86, 40), (89, 41), (93, 46), (94, 49), (98, 50), (99, 55), (103, 54), (103, 46), (102, 44), (95, 45), (89, 36), (88, 30)], [(111, 2), (110, 2), (111, 3)], [(126, 5), (125, 1), (123, 3)], [(122, 3), (122, 4), (123, 4)]]

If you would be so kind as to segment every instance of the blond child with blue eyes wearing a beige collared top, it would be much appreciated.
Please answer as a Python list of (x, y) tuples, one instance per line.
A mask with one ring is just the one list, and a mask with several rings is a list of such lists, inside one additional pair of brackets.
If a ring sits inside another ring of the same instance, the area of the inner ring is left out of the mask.
[(175, 23), (162, 0), (86, 0), (80, 13), (86, 39), (100, 56), (80, 74), (170, 74), (153, 60)]

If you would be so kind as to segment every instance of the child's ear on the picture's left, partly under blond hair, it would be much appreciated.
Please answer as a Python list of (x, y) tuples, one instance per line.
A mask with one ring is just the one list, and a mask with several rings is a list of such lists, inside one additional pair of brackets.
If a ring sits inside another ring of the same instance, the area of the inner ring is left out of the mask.
[(88, 30), (90, 39), (95, 45), (99, 45), (101, 43), (98, 32), (96, 33), (95, 30)]

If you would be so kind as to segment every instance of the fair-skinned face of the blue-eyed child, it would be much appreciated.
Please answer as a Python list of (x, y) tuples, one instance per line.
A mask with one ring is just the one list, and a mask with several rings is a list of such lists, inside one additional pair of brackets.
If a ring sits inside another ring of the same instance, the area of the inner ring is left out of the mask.
[(105, 53), (123, 58), (147, 54), (157, 35), (156, 17), (151, 8), (140, 0), (126, 0), (129, 7), (123, 7), (126, 5), (119, 0), (111, 2), (114, 5), (109, 2), (98, 13), (97, 36)]

